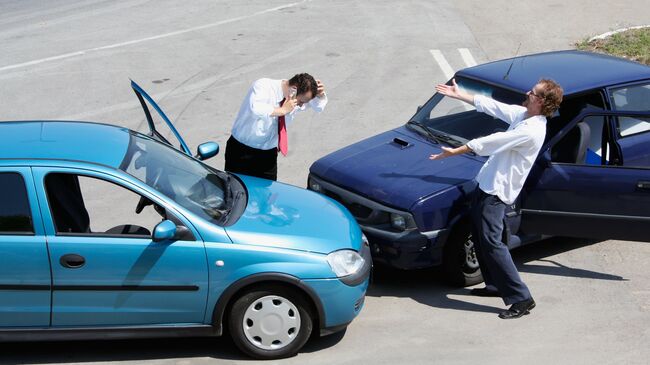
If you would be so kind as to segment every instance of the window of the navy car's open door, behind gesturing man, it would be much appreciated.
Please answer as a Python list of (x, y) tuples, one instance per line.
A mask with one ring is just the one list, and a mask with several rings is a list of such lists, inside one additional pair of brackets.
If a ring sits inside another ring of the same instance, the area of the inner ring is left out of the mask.
[(611, 144), (607, 119), (589, 116), (578, 122), (551, 147), (551, 161), (578, 165), (608, 165)]

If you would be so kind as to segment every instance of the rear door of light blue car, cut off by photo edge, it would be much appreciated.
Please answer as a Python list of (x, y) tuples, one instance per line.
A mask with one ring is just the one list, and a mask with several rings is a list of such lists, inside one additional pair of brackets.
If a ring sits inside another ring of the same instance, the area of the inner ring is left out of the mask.
[(50, 284), (31, 170), (0, 166), (0, 327), (49, 326)]

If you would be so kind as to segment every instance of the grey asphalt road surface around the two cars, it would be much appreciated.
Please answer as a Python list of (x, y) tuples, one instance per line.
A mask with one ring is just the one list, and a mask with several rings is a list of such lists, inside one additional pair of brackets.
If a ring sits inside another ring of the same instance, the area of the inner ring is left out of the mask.
[[(304, 187), (314, 160), (404, 123), (450, 71), (650, 24), (648, 9), (648, 0), (3, 0), (0, 120), (143, 130), (131, 78), (190, 146), (225, 147), (253, 80), (309, 72), (330, 104), (297, 117), (279, 162), (279, 180)], [(223, 157), (210, 164), (222, 168)], [(524, 319), (499, 320), (499, 299), (446, 287), (435, 272), (380, 268), (346, 333), (277, 363), (647, 363), (650, 244), (556, 238), (513, 254), (538, 303)], [(7, 364), (114, 361), (248, 359), (226, 339), (0, 345)]]

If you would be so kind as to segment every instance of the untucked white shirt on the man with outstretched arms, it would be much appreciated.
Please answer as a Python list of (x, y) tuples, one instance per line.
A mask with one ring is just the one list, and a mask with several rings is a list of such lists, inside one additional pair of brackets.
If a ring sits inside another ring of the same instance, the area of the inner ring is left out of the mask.
[(483, 95), (474, 96), (474, 105), (477, 111), (510, 124), (507, 131), (473, 139), (467, 147), (478, 155), (490, 156), (476, 175), (479, 188), (512, 204), (544, 143), (546, 117), (526, 118), (525, 107), (500, 103)]

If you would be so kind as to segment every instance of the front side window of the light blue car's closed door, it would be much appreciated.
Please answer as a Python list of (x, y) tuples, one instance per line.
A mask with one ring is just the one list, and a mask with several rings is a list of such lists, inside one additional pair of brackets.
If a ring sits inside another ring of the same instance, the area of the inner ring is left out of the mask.
[[(51, 173), (45, 188), (57, 233), (149, 237), (167, 219), (165, 210), (149, 199), (106, 180)], [(136, 213), (141, 202), (144, 209)]]

